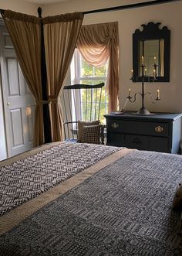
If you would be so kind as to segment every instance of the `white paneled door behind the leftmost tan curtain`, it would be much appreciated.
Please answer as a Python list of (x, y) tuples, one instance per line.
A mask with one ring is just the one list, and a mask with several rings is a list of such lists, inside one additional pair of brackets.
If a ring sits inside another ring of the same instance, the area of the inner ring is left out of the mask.
[(33, 146), (35, 101), (23, 77), (5, 25), (0, 25), (0, 63), (8, 157)]

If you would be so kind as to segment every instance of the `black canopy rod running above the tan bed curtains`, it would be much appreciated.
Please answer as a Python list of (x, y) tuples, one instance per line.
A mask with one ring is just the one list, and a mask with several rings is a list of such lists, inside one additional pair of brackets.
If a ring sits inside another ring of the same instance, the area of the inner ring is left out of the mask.
[[(83, 12), (84, 15), (86, 14), (92, 14), (96, 12), (111, 12), (111, 11), (119, 11), (123, 9), (133, 9), (133, 8), (139, 8), (139, 7), (144, 7), (144, 6), (149, 6), (149, 5), (160, 5), (168, 2), (180, 2), (181, 0), (154, 0), (154, 1), (149, 1), (149, 2), (139, 2), (136, 4), (130, 4), (130, 5), (120, 5), (120, 6), (114, 6), (114, 7), (109, 7), (105, 9), (96, 9), (96, 10), (91, 10), (91, 11), (86, 11)], [(5, 10), (0, 9), (0, 13), (2, 14)], [(40, 16), (40, 15), (39, 15)]]

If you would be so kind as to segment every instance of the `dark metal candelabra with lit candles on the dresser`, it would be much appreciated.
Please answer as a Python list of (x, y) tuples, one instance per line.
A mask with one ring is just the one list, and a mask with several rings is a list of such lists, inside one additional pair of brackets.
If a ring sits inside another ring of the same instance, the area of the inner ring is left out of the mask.
[[(156, 60), (156, 57), (154, 57), (154, 64), (153, 64), (153, 81), (154, 80), (157, 80), (157, 63), (155, 62)], [(145, 93), (145, 88), (144, 88), (144, 81), (145, 81), (145, 77), (146, 77), (146, 69), (145, 69), (145, 65), (144, 65), (144, 61), (143, 61), (143, 56), (142, 56), (142, 65), (140, 66), (141, 67), (141, 70), (142, 70), (142, 92), (137, 92), (136, 94), (134, 94), (134, 97), (131, 97), (131, 90), (129, 89), (129, 94), (128, 94), (128, 97), (126, 97), (131, 103), (134, 103), (136, 101), (136, 95), (137, 94), (140, 94), (141, 96), (141, 108), (139, 111), (136, 112), (136, 114), (140, 114), (140, 115), (143, 115), (143, 114), (152, 114), (150, 113), (150, 111), (147, 110), (147, 108), (145, 108), (144, 106), (144, 100), (145, 100), (145, 97), (147, 94), (149, 94), (152, 98), (152, 94), (150, 92), (147, 92)], [(144, 71), (145, 69), (145, 71)], [(144, 73), (145, 72), (145, 73)], [(131, 80), (133, 80), (133, 70), (132, 70), (132, 76), (130, 78)], [(150, 81), (150, 79), (149, 79)], [(157, 103), (157, 101), (160, 101), (160, 90), (157, 90), (157, 98), (155, 99), (155, 101), (151, 101), (152, 103)]]

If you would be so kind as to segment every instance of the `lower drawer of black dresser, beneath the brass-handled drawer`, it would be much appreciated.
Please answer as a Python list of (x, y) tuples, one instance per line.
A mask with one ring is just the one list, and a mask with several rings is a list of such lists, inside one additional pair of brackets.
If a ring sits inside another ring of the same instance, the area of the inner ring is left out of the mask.
[(126, 135), (125, 146), (143, 150), (169, 152), (168, 138), (160, 138), (143, 135)]

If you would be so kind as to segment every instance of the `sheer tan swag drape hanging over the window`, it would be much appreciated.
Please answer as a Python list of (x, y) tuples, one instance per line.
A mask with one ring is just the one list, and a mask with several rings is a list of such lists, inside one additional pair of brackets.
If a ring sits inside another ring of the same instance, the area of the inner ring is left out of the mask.
[(110, 59), (107, 79), (109, 111), (116, 111), (119, 93), (118, 23), (82, 26), (76, 46), (86, 62), (95, 67), (103, 66)]

